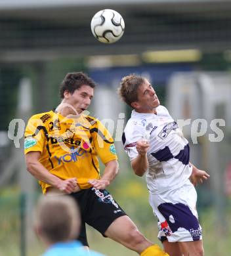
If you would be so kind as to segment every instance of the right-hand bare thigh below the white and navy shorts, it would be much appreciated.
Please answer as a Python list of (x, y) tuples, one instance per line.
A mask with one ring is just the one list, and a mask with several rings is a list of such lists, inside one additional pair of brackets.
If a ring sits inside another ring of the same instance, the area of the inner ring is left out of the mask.
[(189, 256), (203, 256), (203, 242), (202, 240), (179, 242), (180, 251), (184, 255)]

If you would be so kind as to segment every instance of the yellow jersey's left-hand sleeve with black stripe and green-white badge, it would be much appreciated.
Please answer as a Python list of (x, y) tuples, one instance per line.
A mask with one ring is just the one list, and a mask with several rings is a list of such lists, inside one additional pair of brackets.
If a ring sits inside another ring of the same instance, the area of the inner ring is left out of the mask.
[(24, 137), (24, 154), (30, 151), (43, 152), (45, 144), (45, 127), (43, 121), (37, 116), (32, 116), (26, 126)]

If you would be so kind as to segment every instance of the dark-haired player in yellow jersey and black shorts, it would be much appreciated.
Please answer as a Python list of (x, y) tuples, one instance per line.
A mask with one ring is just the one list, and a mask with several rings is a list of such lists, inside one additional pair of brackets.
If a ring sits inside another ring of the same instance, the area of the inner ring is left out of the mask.
[[(84, 114), (95, 82), (81, 72), (67, 74), (60, 87), (62, 102), (50, 112), (32, 116), (25, 132), (28, 171), (43, 194), (70, 194), (81, 210), (80, 242), (87, 242), (85, 223), (143, 256), (167, 255), (137, 229), (105, 189), (116, 177), (114, 140), (94, 117)], [(100, 176), (98, 157), (105, 165)], [(55, 214), (55, 213), (54, 213)]]

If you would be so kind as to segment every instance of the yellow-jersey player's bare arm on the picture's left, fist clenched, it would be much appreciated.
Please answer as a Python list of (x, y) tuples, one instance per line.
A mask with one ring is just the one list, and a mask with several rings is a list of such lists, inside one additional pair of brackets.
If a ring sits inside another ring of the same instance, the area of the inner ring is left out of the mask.
[(68, 194), (72, 193), (77, 184), (76, 178), (63, 181), (50, 173), (40, 162), (41, 152), (30, 151), (26, 154), (26, 168), (37, 180), (50, 184), (54, 188)]

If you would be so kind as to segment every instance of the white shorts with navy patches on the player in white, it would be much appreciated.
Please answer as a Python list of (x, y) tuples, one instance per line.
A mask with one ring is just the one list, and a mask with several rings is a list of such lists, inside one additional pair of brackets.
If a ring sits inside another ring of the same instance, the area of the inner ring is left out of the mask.
[(149, 202), (158, 217), (158, 238), (163, 242), (202, 240), (202, 230), (196, 211), (197, 194), (188, 180), (180, 188), (162, 194), (150, 193)]

